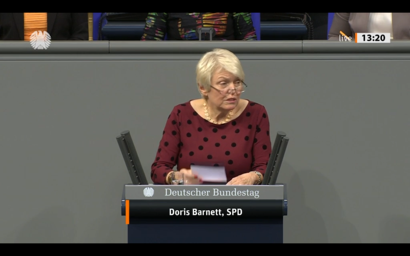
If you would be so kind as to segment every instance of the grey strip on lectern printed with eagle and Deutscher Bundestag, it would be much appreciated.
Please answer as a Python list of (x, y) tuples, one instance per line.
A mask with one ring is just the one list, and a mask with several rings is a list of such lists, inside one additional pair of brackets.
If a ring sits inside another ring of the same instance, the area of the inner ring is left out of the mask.
[(126, 200), (283, 200), (283, 185), (126, 185)]

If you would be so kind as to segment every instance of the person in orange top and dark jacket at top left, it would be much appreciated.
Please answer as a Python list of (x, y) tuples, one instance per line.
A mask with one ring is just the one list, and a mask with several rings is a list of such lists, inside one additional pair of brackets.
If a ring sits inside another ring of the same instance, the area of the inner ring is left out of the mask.
[(47, 31), (51, 40), (88, 40), (88, 14), (55, 12), (0, 13), (0, 40), (30, 41), (34, 31)]

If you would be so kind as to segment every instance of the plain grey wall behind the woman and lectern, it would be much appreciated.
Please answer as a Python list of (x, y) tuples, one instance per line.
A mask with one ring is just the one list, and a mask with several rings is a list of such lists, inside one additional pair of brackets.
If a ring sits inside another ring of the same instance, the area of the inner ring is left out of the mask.
[(291, 138), (284, 242), (409, 243), (410, 42), (329, 43), (0, 44), (0, 242), (126, 243), (115, 136), (131, 131), (150, 177), (172, 107), (199, 96), (201, 52), (220, 47), (242, 60), (243, 97)]

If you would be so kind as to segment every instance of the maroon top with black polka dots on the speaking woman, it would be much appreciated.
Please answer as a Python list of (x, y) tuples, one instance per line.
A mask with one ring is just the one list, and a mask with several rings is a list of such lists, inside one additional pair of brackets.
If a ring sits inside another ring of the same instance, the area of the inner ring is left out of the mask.
[(203, 119), (190, 102), (176, 105), (151, 166), (151, 179), (166, 184), (174, 166), (190, 169), (193, 164), (224, 166), (228, 181), (251, 170), (264, 174), (272, 151), (269, 131), (267, 111), (252, 101), (225, 124)]

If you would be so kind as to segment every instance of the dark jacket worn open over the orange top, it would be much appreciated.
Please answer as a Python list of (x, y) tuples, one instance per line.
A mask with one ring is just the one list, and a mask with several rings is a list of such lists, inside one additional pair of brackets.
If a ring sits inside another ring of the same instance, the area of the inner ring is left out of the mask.
[[(51, 40), (88, 40), (88, 14), (47, 13)], [(0, 40), (24, 40), (24, 13), (0, 13)]]

